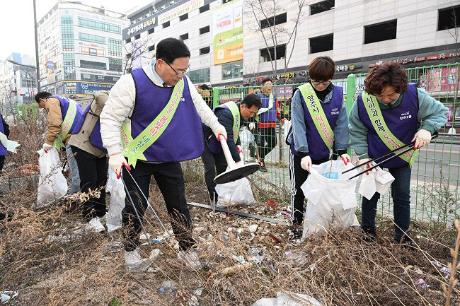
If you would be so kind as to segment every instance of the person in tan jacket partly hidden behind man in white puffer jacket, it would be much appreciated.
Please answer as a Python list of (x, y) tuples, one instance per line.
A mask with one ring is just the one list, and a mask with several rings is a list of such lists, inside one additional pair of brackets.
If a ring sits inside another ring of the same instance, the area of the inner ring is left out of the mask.
[(99, 197), (91, 196), (83, 206), (86, 229), (99, 233), (105, 230), (101, 223), (105, 216), (105, 184), (107, 183), (107, 150), (100, 137), (99, 115), (108, 99), (108, 90), (100, 90), (84, 111), (84, 122), (79, 133), (70, 137), (68, 145), (74, 152), (80, 173), (81, 192), (98, 189)]

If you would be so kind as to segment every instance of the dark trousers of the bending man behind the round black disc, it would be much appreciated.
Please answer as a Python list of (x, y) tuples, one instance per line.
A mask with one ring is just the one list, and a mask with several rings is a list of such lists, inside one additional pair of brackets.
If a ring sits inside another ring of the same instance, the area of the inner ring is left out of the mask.
[[(214, 199), (214, 193), (216, 194), (216, 201), (218, 198), (218, 194), (216, 192), (216, 184), (214, 183), (214, 177), (216, 175), (220, 175), (222, 172), (226, 170), (227, 163), (225, 159), (224, 153), (221, 154), (214, 154), (209, 151), (209, 146), (207, 145), (207, 140), (205, 139), (205, 150), (201, 155), (201, 160), (203, 161), (203, 165), (205, 166), (205, 182), (207, 187), (207, 192), (211, 201)], [(216, 174), (217, 172), (217, 174)]]

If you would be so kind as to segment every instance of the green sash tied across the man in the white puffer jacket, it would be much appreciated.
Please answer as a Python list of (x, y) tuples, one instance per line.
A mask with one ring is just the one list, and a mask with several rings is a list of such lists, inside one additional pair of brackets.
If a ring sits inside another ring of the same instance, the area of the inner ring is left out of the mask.
[(156, 116), (154, 121), (149, 124), (136, 139), (132, 139), (130, 131), (127, 129), (126, 122), (121, 128), (123, 151), (122, 154), (128, 159), (128, 164), (136, 167), (137, 160), (146, 160), (144, 151), (149, 148), (156, 139), (159, 139), (166, 127), (171, 123), (178, 108), (180, 98), (184, 90), (183, 78), (174, 86), (171, 98), (163, 110)]

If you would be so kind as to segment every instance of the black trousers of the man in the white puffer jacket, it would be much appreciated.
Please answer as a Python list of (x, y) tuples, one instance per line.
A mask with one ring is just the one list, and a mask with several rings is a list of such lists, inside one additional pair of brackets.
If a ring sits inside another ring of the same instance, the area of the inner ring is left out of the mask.
[[(190, 220), (190, 211), (188, 211), (187, 201), (185, 201), (184, 175), (180, 163), (154, 164), (137, 161), (136, 167), (131, 167), (131, 169), (132, 177), (146, 196), (149, 196), (150, 179), (152, 175), (154, 176), (166, 203), (168, 215), (172, 218), (171, 225), (179, 242), (179, 247), (184, 251), (190, 249), (195, 245), (195, 240), (192, 238), (192, 220)], [(141, 221), (137, 218), (134, 208), (144, 223), (147, 202), (125, 167), (123, 167), (123, 179), (134, 202), (133, 207), (128, 196), (126, 196), (126, 206), (122, 211), (122, 219), (123, 225), (129, 230), (125, 231), (124, 245), (126, 251), (133, 251), (139, 246), (139, 233), (142, 231)]]

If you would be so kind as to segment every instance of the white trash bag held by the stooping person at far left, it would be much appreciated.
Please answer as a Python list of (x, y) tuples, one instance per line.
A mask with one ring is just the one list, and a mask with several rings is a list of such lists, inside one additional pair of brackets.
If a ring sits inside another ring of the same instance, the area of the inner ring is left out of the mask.
[(37, 207), (50, 204), (56, 199), (67, 194), (67, 180), (62, 174), (59, 165), (59, 153), (56, 148), (51, 148), (48, 153), (43, 149), (37, 151), (40, 177), (38, 179)]

